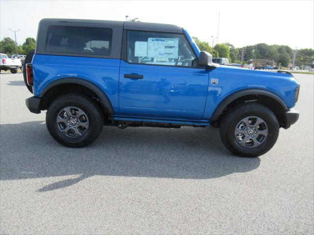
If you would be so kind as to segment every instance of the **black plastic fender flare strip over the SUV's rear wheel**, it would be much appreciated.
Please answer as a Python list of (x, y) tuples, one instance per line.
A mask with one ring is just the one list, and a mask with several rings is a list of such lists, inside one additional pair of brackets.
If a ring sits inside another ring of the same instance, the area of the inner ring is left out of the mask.
[(69, 77), (69, 78), (60, 78), (58, 80), (53, 81), (50, 83), (48, 86), (45, 87), (45, 89), (41, 92), (39, 97), (43, 97), (51, 88), (54, 86), (60, 85), (60, 84), (67, 84), (67, 83), (72, 83), (72, 84), (78, 84), (81, 86), (84, 86), (91, 91), (93, 91), (97, 96), (100, 98), (102, 106), (105, 108), (105, 111), (107, 112), (108, 115), (113, 115), (113, 109), (112, 105), (106, 96), (106, 94), (94, 83), (91, 83), (87, 80), (81, 79), (81, 78), (74, 78), (74, 77)]

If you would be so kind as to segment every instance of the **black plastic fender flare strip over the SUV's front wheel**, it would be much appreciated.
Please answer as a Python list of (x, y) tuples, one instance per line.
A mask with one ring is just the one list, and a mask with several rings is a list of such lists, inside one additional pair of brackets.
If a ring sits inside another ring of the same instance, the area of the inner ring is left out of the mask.
[(252, 95), (252, 94), (260, 94), (265, 95), (270, 98), (273, 98), (276, 100), (282, 107), (284, 111), (288, 111), (288, 107), (285, 104), (285, 102), (276, 94), (262, 90), (262, 89), (245, 89), (238, 92), (235, 92), (233, 94), (230, 94), (227, 96), (223, 101), (220, 102), (218, 107), (215, 109), (212, 118), (210, 118), (212, 121), (217, 121), (221, 113), (224, 111), (224, 109), (235, 99), (245, 96), (245, 95)]

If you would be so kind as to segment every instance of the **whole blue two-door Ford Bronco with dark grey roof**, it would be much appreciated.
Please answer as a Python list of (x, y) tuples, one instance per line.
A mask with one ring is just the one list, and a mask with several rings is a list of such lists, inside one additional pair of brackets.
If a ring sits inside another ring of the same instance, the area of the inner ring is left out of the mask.
[(43, 19), (24, 79), (27, 108), (47, 110), (48, 131), (69, 147), (92, 143), (104, 125), (212, 125), (232, 153), (257, 157), (299, 118), (291, 73), (212, 63), (171, 24)]

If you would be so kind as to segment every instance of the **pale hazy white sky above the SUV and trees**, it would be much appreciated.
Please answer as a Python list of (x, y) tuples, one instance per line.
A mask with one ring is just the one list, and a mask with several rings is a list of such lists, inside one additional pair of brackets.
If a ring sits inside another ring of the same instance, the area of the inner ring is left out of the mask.
[(18, 44), (27, 37), (36, 38), (43, 18), (125, 21), (128, 15), (142, 22), (179, 25), (211, 45), (211, 36), (217, 36), (219, 12), (218, 43), (228, 42), (235, 47), (258, 43), (314, 47), (314, 0), (0, 0), (0, 39), (14, 39), (14, 32), (8, 28), (20, 29)]

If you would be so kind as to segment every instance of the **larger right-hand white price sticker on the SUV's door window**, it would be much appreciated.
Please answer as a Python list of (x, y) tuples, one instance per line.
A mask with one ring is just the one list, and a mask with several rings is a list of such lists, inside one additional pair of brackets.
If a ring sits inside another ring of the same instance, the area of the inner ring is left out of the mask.
[(179, 39), (149, 38), (147, 42), (148, 57), (178, 58)]

